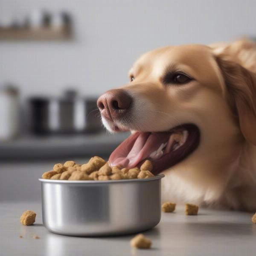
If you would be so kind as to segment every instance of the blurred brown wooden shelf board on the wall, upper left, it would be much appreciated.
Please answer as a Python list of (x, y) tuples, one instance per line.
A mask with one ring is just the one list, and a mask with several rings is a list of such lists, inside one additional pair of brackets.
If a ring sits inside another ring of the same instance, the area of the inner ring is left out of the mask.
[(43, 27), (38, 29), (26, 28), (0, 28), (0, 40), (33, 40), (33, 41), (51, 41), (67, 40), (71, 38), (70, 26), (62, 28)]

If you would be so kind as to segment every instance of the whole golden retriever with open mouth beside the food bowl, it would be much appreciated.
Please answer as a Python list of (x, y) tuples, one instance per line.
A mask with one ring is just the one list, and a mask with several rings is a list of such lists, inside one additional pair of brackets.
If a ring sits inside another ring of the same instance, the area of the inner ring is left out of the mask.
[(166, 201), (256, 211), (256, 45), (155, 49), (129, 77), (97, 102), (108, 130), (132, 132), (110, 164), (151, 160)]

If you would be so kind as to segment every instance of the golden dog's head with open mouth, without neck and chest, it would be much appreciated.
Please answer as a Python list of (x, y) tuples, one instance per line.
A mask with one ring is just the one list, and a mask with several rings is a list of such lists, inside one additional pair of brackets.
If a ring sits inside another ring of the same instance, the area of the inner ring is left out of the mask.
[(97, 102), (108, 130), (132, 131), (111, 165), (150, 159), (158, 173), (197, 148), (207, 154), (243, 140), (256, 145), (256, 76), (224, 48), (156, 49), (135, 62), (129, 77)]

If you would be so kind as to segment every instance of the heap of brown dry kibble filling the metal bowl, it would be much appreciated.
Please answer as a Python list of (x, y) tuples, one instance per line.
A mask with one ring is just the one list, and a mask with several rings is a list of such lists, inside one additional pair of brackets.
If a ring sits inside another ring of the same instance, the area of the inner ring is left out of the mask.
[(92, 157), (88, 163), (83, 165), (74, 161), (57, 163), (51, 171), (42, 175), (43, 179), (51, 180), (125, 180), (125, 179), (146, 179), (154, 177), (153, 166), (149, 160), (138, 167), (127, 169), (121, 166), (109, 166), (101, 157)]

